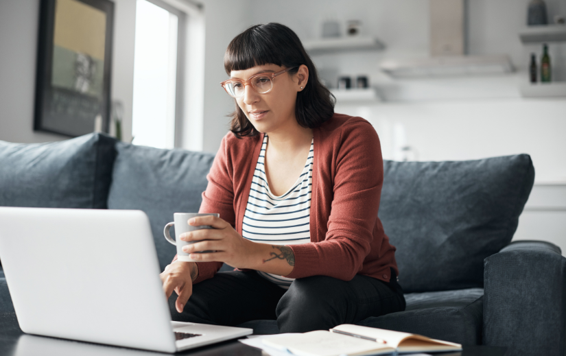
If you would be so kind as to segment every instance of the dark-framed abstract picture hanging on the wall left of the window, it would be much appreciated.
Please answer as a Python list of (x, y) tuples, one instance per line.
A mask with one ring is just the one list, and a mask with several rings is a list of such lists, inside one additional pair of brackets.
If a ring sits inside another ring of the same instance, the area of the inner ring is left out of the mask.
[(34, 130), (108, 132), (113, 18), (108, 0), (40, 1)]

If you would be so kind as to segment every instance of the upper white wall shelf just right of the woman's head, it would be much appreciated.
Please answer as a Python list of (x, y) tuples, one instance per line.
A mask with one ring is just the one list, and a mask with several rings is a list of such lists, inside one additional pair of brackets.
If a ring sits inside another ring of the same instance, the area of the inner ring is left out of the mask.
[(304, 40), (303, 46), (310, 54), (339, 53), (345, 51), (379, 51), (384, 43), (375, 37), (339, 37)]

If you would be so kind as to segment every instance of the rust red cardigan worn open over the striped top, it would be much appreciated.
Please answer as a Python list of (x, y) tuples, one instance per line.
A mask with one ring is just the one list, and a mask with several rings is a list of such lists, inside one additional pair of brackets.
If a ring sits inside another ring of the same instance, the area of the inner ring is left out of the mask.
[[(351, 280), (364, 274), (389, 281), (395, 248), (377, 217), (384, 163), (377, 132), (361, 117), (334, 114), (313, 129), (311, 242), (290, 245), (295, 266), (288, 278), (324, 275)], [(241, 235), (252, 176), (263, 142), (257, 137), (222, 139), (202, 193), (199, 213), (220, 217)], [(199, 262), (195, 283), (211, 278), (221, 262)]]

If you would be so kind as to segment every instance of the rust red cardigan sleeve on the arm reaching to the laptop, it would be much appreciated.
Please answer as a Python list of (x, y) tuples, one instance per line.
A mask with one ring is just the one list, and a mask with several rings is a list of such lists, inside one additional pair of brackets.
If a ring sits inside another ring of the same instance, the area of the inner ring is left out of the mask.
[[(202, 203), (199, 213), (219, 213), (224, 221), (235, 228), (236, 215), (234, 211), (234, 189), (233, 189), (233, 166), (227, 152), (226, 139), (228, 132), (220, 143), (220, 149), (214, 158), (211, 170), (207, 174), (207, 190), (202, 192)], [(173, 259), (175, 261), (177, 256)], [(199, 283), (205, 279), (212, 278), (220, 268), (222, 262), (197, 262), (198, 277), (193, 282)]]

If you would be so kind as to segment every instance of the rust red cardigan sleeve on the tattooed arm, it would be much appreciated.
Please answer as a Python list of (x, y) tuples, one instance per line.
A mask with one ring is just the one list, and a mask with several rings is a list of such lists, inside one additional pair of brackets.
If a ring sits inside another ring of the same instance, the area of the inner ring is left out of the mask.
[(325, 239), (289, 246), (295, 265), (287, 278), (323, 275), (350, 281), (362, 270), (374, 238), (383, 167), (379, 137), (370, 123), (342, 128)]

